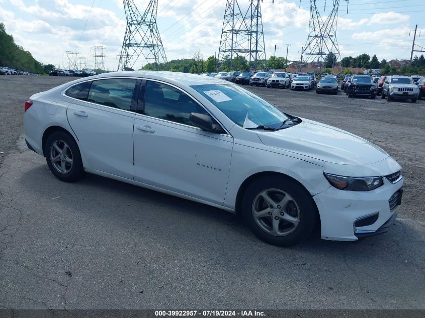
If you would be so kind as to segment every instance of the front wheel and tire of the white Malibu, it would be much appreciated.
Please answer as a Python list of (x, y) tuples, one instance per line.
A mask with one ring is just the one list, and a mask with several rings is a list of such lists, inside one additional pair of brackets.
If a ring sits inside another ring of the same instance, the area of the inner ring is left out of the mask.
[[(266, 201), (265, 197), (271, 201)], [(278, 203), (285, 198), (289, 201), (285, 207), (280, 206)], [(255, 217), (256, 211), (265, 211), (263, 208), (270, 210), (266, 211), (267, 215)], [(243, 193), (242, 216), (249, 229), (264, 242), (291, 246), (310, 236), (316, 224), (317, 209), (310, 194), (293, 179), (262, 176), (249, 184)]]

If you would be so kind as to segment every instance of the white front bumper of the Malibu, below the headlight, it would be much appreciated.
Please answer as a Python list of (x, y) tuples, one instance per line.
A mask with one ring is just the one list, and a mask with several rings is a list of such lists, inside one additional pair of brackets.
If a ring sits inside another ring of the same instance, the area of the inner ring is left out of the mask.
[[(320, 215), (321, 238), (332, 241), (356, 241), (359, 238), (386, 232), (393, 223), (397, 205), (390, 209), (389, 200), (403, 186), (403, 179), (393, 184), (383, 179), (384, 184), (372, 191), (346, 191), (330, 186), (313, 196)], [(398, 195), (398, 194), (397, 194)], [(377, 216), (372, 224), (356, 221)], [(392, 220), (392, 221), (391, 221)]]

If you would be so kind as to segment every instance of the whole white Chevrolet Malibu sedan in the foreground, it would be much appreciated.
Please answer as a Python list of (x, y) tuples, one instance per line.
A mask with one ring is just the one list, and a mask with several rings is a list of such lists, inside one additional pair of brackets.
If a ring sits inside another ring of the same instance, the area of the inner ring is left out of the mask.
[(207, 76), (81, 78), (31, 96), (24, 127), (59, 180), (94, 173), (216, 206), (279, 246), (316, 226), (326, 240), (386, 232), (403, 193), (378, 146)]

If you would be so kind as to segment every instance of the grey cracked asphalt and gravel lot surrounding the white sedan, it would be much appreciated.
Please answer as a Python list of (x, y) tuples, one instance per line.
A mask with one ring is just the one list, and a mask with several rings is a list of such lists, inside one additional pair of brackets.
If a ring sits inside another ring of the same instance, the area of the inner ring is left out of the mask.
[(425, 102), (248, 89), (364, 137), (405, 177), (388, 233), (267, 245), (222, 210), (102, 177), (57, 180), (24, 102), (69, 78), (0, 76), (0, 307), (425, 309)]

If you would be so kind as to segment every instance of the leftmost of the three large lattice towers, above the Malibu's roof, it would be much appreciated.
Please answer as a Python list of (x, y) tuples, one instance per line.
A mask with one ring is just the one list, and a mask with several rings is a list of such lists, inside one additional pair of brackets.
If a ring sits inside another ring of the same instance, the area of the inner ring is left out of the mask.
[[(127, 28), (125, 30), (118, 70), (136, 64), (140, 55), (147, 63), (167, 65), (164, 47), (156, 25), (158, 0), (150, 0), (143, 14), (140, 14), (133, 0), (123, 0)], [(140, 61), (139, 61), (140, 63)]]

